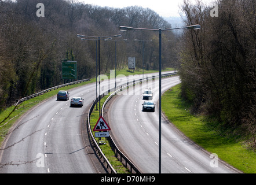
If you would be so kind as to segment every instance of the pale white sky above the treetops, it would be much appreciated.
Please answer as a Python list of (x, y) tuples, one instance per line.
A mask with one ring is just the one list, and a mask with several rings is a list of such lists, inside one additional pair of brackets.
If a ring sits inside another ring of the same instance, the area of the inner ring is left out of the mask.
[[(108, 6), (111, 8), (124, 8), (127, 6), (142, 6), (142, 8), (149, 8), (154, 10), (162, 17), (180, 17), (180, 8), (184, 0), (79, 0), (86, 4)], [(196, 0), (191, 0), (195, 2)], [(203, 2), (210, 2), (210, 0), (203, 0)]]

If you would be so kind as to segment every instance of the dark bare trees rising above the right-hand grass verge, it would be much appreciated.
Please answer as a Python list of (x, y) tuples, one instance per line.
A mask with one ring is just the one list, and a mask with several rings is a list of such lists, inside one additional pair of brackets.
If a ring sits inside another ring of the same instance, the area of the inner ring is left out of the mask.
[(247, 138), (256, 147), (256, 7), (254, 0), (220, 0), (213, 7), (188, 0), (181, 7), (186, 24), (180, 45), (182, 97), (194, 113), (215, 117), (222, 134)]

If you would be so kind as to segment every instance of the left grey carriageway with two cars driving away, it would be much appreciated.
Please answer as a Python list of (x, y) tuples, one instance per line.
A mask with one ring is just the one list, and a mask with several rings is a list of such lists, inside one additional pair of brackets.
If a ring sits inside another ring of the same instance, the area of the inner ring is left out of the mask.
[[(119, 75), (117, 84), (139, 79)], [(101, 93), (115, 86), (106, 76), (101, 82)], [(86, 121), (87, 109), (96, 98), (96, 84), (74, 88), (70, 98), (85, 99), (83, 108), (71, 108), (69, 101), (47, 99), (27, 112), (16, 129), (8, 135), (0, 151), (0, 173), (98, 173), (81, 135), (81, 124)], [(95, 162), (95, 161), (94, 161)], [(97, 161), (96, 161), (97, 163)]]

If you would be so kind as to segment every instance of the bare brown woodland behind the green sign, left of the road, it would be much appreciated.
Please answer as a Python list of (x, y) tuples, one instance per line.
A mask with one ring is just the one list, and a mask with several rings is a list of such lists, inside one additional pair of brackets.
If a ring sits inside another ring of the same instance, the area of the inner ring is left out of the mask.
[[(136, 57), (142, 68), (142, 42), (145, 42), (145, 68), (158, 69), (158, 36), (149, 32), (120, 32), (119, 26), (170, 28), (162, 17), (140, 6), (108, 8), (74, 0), (41, 0), (44, 17), (38, 17), (36, 0), (0, 0), (0, 110), (17, 99), (36, 91), (64, 83), (61, 62), (78, 62), (78, 80), (95, 77), (96, 42), (81, 41), (76, 34), (107, 36), (122, 34), (126, 42), (118, 42), (118, 69), (127, 66), (128, 57)], [(175, 52), (163, 35), (163, 67), (174, 65)], [(114, 40), (115, 38), (113, 38)], [(115, 69), (114, 42), (101, 40), (101, 72)]]

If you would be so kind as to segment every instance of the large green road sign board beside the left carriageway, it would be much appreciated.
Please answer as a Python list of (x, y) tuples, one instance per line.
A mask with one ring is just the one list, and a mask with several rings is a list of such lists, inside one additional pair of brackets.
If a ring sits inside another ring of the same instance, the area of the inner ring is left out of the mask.
[(77, 63), (76, 61), (62, 62), (62, 79), (77, 78)]

